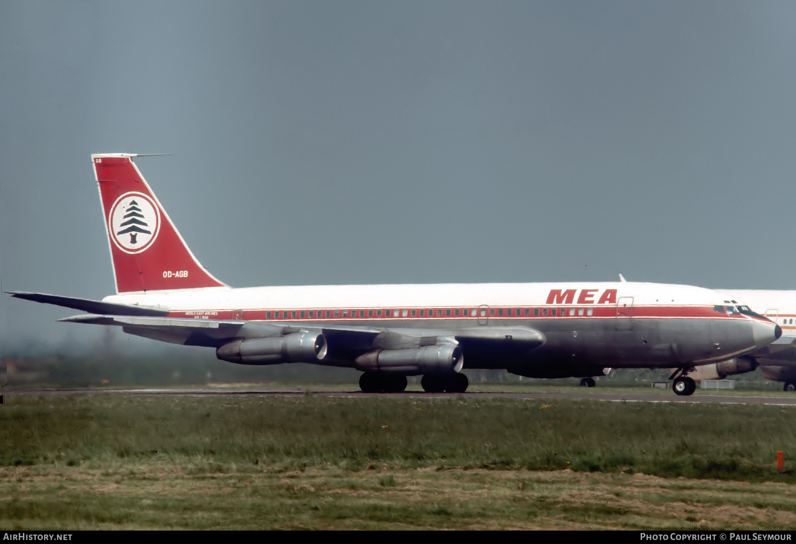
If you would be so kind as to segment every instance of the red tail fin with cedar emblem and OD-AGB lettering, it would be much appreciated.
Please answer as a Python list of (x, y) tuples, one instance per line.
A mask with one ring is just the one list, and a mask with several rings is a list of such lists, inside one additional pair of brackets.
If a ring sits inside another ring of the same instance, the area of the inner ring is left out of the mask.
[(129, 153), (92, 155), (116, 291), (222, 287), (193, 256)]

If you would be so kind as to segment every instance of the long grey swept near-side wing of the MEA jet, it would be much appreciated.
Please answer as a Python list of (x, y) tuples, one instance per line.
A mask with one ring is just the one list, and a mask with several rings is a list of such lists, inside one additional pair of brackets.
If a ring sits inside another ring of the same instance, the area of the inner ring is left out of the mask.
[(385, 351), (397, 353), (399, 359), (412, 359), (424, 350), (426, 356), (433, 352), (440, 357), (439, 350), (434, 350), (442, 346), (461, 348), (465, 357), (480, 352), (510, 356), (539, 348), (546, 340), (541, 332), (527, 327), (379, 328), (98, 314), (59, 321), (120, 326), (124, 332), (154, 340), (217, 348), (221, 359), (252, 364), (308, 362), (358, 367), (357, 359), (369, 353)]

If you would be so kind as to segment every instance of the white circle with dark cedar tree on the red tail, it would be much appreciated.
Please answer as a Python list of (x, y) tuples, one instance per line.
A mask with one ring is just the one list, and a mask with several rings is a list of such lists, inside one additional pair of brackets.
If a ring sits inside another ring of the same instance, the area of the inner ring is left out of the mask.
[(150, 196), (125, 192), (111, 206), (107, 217), (111, 240), (125, 253), (141, 253), (150, 247), (160, 230), (160, 212)]

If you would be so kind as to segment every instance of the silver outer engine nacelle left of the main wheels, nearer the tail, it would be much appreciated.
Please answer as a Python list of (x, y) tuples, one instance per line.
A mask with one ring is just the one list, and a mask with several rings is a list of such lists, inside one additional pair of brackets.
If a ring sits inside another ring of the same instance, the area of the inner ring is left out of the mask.
[(233, 340), (216, 350), (230, 363), (317, 363), (326, 357), (326, 337), (320, 332), (293, 332), (285, 336)]

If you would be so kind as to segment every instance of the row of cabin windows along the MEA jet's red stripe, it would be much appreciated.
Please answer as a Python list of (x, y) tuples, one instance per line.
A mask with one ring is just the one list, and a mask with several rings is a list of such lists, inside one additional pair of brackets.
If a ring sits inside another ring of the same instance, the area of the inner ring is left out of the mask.
[[(591, 316), (594, 315), (594, 309), (583, 308), (490, 308), (490, 317), (530, 317), (533, 311), (533, 317), (564, 317), (569, 314), (574, 316)], [(266, 319), (313, 319), (315, 316), (318, 319), (324, 317), (334, 318), (361, 318), (365, 317), (486, 317), (486, 308), (429, 308), (429, 309), (344, 309), (344, 310), (277, 310), (273, 313), (266, 312)], [(273, 317), (271, 317), (273, 315)]]

